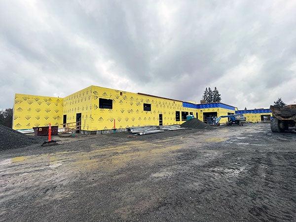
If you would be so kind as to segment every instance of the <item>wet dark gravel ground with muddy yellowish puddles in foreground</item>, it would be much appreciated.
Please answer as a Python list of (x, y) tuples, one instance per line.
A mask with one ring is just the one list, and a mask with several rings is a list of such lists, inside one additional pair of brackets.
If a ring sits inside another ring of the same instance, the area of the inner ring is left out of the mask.
[(269, 124), (0, 152), (0, 221), (295, 221), (296, 133)]

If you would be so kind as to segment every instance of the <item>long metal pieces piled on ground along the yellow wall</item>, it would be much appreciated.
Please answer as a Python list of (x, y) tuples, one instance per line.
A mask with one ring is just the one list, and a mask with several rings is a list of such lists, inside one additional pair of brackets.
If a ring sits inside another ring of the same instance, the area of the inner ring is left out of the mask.
[(186, 128), (181, 127), (180, 125), (170, 125), (170, 126), (139, 126), (139, 127), (129, 127), (128, 132), (137, 135), (146, 135), (153, 133), (162, 133), (165, 130), (185, 130)]

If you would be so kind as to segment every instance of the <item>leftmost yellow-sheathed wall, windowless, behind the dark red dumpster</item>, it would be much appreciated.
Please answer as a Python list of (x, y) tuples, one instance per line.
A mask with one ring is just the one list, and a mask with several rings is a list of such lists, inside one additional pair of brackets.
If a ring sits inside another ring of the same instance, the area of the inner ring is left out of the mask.
[(15, 94), (12, 128), (32, 129), (63, 123), (63, 98)]

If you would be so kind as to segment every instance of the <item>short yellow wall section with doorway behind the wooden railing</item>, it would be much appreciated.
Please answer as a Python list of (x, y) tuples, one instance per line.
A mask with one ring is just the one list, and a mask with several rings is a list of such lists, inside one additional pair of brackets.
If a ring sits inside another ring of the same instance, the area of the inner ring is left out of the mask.
[(81, 113), (81, 129), (91, 130), (92, 123), (92, 86), (64, 98), (63, 115), (67, 123), (76, 122), (76, 113)]

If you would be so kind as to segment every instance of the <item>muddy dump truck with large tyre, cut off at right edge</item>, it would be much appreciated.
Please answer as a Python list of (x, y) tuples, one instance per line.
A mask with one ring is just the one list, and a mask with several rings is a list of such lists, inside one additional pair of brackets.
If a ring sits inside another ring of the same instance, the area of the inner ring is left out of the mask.
[(273, 118), (270, 122), (271, 131), (282, 133), (296, 126), (296, 104), (284, 107), (270, 106)]

